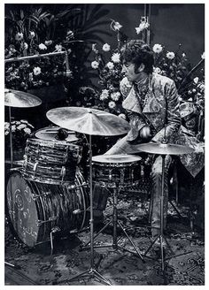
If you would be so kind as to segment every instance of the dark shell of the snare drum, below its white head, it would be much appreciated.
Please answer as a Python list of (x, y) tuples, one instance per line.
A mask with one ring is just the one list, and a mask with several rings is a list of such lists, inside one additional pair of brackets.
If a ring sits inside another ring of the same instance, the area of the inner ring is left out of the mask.
[(92, 179), (108, 185), (133, 185), (141, 176), (140, 161), (123, 164), (93, 162)]

